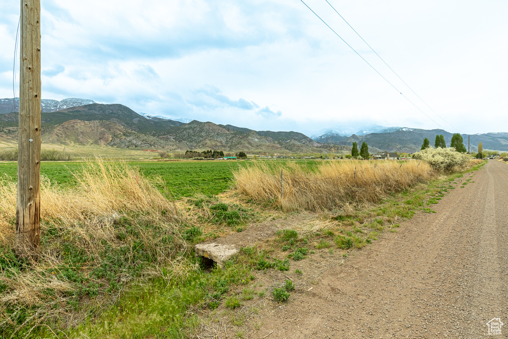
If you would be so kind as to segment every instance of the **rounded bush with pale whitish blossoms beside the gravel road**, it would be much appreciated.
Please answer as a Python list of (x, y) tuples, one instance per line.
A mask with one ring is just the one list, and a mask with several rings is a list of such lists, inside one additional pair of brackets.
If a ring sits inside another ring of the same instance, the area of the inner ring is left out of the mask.
[(472, 158), (455, 148), (426, 148), (414, 153), (413, 159), (423, 160), (438, 171), (451, 171), (455, 166), (461, 166)]

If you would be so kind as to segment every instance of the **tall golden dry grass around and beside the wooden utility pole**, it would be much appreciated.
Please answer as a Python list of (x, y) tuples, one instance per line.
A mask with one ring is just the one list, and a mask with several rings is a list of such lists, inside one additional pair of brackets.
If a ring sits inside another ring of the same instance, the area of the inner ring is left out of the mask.
[[(156, 188), (157, 179), (147, 179), (125, 162), (101, 158), (86, 161), (73, 173), (78, 182), (72, 189), (41, 179), (41, 231), (51, 226), (61, 232), (84, 235), (90, 245), (111, 240), (112, 225), (122, 215), (139, 213), (153, 222), (175, 221), (181, 215), (175, 203)], [(0, 244), (12, 244), (16, 218), (16, 183), (0, 178)]]

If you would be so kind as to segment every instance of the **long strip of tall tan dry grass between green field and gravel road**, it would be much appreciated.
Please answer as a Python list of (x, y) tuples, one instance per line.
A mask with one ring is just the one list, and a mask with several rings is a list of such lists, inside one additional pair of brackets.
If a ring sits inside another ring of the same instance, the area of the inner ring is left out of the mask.
[[(283, 171), (281, 195), (280, 172)], [(296, 163), (257, 162), (234, 172), (236, 189), (259, 202), (284, 211), (324, 210), (351, 203), (377, 202), (433, 178), (437, 173), (425, 162), (404, 163), (331, 161), (308, 170)]]

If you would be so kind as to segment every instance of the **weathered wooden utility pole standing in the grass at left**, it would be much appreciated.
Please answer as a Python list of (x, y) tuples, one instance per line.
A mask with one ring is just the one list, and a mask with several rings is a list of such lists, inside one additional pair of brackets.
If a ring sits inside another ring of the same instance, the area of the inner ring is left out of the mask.
[(21, 0), (16, 251), (39, 245), (41, 215), (41, 2)]

